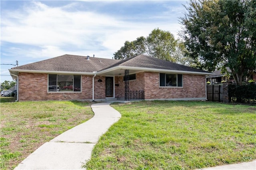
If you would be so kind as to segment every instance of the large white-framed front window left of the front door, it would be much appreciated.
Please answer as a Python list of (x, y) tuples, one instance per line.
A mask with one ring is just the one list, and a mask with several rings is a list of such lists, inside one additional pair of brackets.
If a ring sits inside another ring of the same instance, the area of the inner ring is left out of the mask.
[(48, 75), (48, 92), (81, 91), (81, 75)]

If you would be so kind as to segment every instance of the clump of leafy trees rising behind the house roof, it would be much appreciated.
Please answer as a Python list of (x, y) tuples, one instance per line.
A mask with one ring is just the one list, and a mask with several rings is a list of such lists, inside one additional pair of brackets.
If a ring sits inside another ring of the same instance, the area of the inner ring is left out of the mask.
[(184, 43), (176, 40), (169, 31), (156, 28), (145, 38), (126, 41), (118, 51), (114, 53), (115, 59), (126, 59), (140, 54), (150, 55), (159, 59), (165, 59), (176, 63), (191, 65), (191, 59), (184, 57), (186, 48)]

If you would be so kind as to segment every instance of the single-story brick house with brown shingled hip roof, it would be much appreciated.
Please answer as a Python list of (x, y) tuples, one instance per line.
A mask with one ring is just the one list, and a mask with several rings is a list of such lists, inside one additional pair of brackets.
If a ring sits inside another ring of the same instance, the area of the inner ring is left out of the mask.
[(212, 73), (150, 57), (61, 55), (9, 69), (17, 101), (205, 100)]

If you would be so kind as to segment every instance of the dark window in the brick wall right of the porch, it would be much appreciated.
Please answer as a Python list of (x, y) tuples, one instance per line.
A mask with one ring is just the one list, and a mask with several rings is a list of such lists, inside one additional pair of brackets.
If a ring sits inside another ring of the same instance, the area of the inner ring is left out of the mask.
[(183, 77), (182, 74), (166, 74), (160, 73), (160, 87), (182, 87)]

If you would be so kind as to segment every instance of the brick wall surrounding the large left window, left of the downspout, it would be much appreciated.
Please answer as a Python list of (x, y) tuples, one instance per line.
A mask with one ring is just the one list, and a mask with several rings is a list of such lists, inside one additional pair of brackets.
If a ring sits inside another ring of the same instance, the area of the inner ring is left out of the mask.
[(92, 99), (92, 76), (82, 75), (82, 92), (51, 93), (48, 92), (48, 74), (19, 73), (19, 101), (83, 99)]

